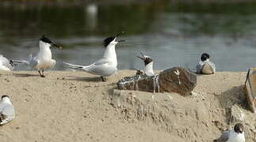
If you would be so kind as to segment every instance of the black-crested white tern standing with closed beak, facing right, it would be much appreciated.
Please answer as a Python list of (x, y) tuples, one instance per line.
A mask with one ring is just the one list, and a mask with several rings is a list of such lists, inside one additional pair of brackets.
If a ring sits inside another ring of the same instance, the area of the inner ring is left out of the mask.
[(32, 57), (32, 54), (29, 55), (29, 61), (25, 60), (13, 60), (13, 62), (24, 63), (29, 65), (31, 69), (37, 70), (40, 74), (40, 77), (44, 76), (45, 69), (52, 69), (56, 62), (52, 59), (52, 50), (50, 47), (62, 47), (53, 43), (51, 39), (48, 39), (46, 36), (42, 36), (39, 41), (39, 52), (37, 56)]

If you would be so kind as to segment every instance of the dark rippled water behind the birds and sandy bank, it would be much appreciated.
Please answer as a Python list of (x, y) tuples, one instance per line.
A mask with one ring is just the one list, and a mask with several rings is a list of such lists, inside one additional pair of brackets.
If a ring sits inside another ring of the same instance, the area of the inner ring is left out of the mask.
[[(89, 65), (103, 54), (102, 40), (124, 31), (117, 46), (118, 68), (139, 69), (139, 51), (155, 69), (195, 69), (208, 52), (218, 71), (245, 71), (256, 65), (256, 3), (97, 3), (44, 5), (0, 3), (0, 53), (26, 59), (47, 34), (63, 45), (52, 48), (55, 69), (62, 62)], [(23, 69), (23, 68), (20, 68)]]

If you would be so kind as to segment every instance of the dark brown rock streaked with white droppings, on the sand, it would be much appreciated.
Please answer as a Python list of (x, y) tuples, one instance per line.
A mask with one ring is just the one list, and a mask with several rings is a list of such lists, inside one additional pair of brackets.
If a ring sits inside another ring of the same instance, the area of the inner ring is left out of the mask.
[(138, 90), (144, 92), (176, 92), (189, 95), (197, 85), (197, 76), (181, 67), (163, 70), (153, 77), (136, 75), (124, 77), (117, 86), (120, 90)]

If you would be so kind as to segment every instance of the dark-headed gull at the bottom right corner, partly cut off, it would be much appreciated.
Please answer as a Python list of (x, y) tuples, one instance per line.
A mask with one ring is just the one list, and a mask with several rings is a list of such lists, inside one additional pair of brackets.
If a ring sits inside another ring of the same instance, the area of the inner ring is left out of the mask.
[(244, 137), (244, 127), (243, 124), (237, 123), (235, 124), (234, 129), (230, 131), (225, 131), (222, 135), (213, 140), (213, 142), (245, 142)]

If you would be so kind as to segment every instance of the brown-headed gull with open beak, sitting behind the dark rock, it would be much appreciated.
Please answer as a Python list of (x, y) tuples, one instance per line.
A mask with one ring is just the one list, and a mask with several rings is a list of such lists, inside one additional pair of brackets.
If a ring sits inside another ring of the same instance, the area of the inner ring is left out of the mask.
[[(142, 57), (137, 56), (138, 58), (142, 59), (145, 67), (143, 69), (144, 73), (148, 76), (155, 76), (154, 70), (153, 70), (153, 60), (151, 57), (143, 54), (142, 52), (140, 52), (140, 54), (142, 55)], [(138, 72), (141, 72), (140, 70)], [(139, 74), (139, 73), (137, 73)]]

